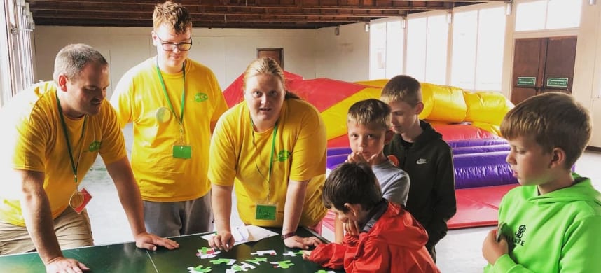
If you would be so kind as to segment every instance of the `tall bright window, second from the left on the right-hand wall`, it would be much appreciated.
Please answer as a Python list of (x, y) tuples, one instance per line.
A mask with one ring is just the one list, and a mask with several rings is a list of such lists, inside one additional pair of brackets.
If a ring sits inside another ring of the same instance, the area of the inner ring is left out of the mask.
[(407, 26), (407, 74), (422, 82), (445, 84), (447, 15), (410, 18)]

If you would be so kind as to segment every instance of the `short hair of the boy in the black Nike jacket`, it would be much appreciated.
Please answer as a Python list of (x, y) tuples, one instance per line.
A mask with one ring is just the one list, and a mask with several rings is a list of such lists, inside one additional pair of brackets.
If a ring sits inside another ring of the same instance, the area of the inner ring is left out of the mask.
[(410, 106), (415, 106), (418, 102), (422, 102), (422, 85), (411, 76), (394, 76), (382, 88), (380, 99), (387, 104), (406, 102)]

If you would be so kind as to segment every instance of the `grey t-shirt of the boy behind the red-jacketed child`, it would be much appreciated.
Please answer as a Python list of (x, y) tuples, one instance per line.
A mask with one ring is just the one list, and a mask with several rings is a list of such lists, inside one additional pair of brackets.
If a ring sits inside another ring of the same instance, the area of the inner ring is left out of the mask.
[(390, 160), (373, 165), (371, 169), (380, 182), (382, 197), (405, 206), (409, 194), (409, 174), (394, 166)]

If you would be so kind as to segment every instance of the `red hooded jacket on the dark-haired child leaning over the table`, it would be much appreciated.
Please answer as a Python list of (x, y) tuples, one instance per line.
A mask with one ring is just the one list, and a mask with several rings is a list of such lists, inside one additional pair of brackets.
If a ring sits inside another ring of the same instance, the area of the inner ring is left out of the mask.
[(408, 211), (385, 200), (373, 210), (380, 213), (359, 237), (347, 234), (343, 244), (320, 244), (309, 259), (345, 272), (440, 272), (424, 247), (426, 230)]

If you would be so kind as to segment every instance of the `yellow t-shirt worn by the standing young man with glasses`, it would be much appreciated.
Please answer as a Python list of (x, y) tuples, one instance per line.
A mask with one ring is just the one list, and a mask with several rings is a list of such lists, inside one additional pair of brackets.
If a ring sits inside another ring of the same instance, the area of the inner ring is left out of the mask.
[[(132, 169), (142, 199), (147, 201), (193, 200), (211, 188), (207, 179), (210, 126), (228, 106), (210, 69), (187, 59), (185, 71), (184, 134), (178, 122), (184, 76), (161, 72), (173, 113), (158, 78), (156, 57), (127, 71), (111, 97), (121, 126), (133, 123)], [(159, 109), (166, 120), (157, 118)], [(173, 157), (173, 146), (181, 144), (192, 147), (191, 158)]]

